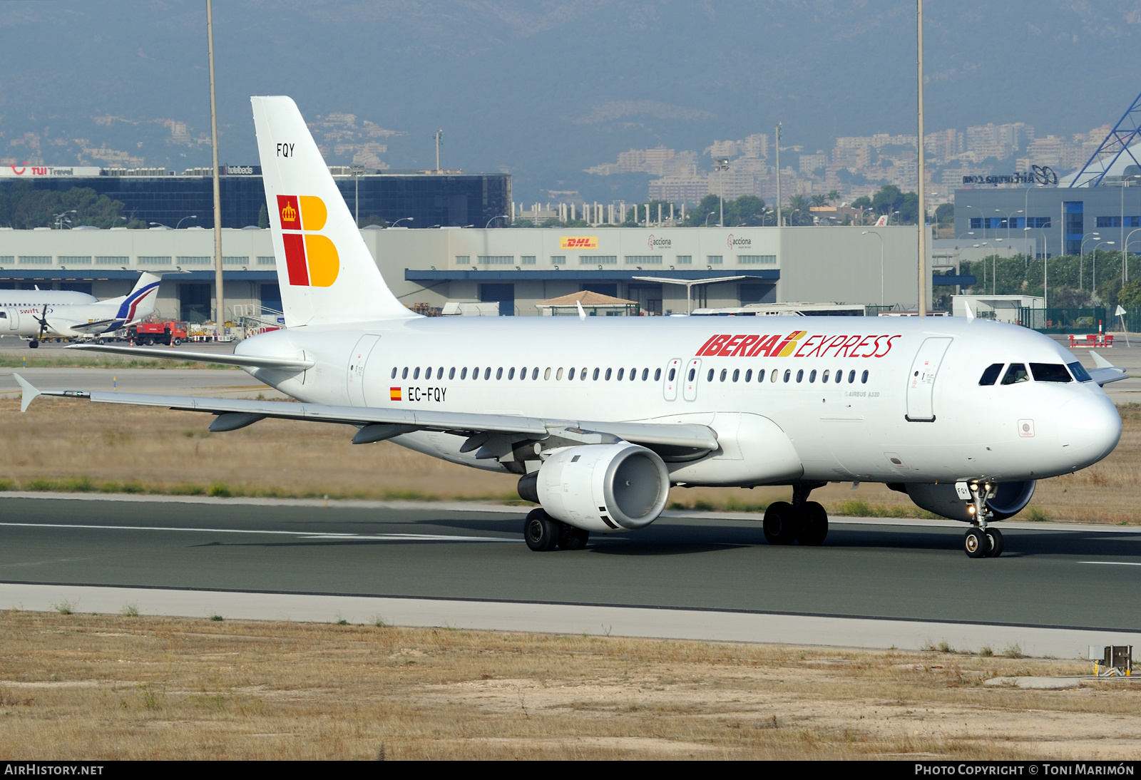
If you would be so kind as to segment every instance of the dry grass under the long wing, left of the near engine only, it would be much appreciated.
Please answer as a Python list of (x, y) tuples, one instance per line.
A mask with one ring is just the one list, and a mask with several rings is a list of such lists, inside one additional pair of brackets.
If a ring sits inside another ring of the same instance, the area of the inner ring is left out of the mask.
[(516, 478), (393, 444), (353, 445), (348, 425), (265, 420), (210, 433), (212, 420), (58, 398), (19, 414), (17, 401), (0, 400), (10, 455), (0, 480), (7, 489), (518, 501)]

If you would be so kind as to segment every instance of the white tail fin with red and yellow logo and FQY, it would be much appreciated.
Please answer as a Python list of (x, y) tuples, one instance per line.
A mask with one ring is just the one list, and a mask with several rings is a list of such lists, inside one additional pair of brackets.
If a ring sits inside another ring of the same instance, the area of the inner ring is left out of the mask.
[(286, 326), (418, 316), (385, 284), (297, 104), (250, 101)]

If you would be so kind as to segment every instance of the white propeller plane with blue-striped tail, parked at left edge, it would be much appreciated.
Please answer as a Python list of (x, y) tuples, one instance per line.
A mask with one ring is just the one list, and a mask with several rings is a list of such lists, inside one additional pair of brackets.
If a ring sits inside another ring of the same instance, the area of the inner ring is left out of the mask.
[(130, 293), (105, 301), (58, 290), (0, 291), (0, 335), (30, 336), (27, 346), (35, 349), (44, 335), (74, 338), (118, 331), (154, 311), (161, 281), (157, 274), (144, 273)]

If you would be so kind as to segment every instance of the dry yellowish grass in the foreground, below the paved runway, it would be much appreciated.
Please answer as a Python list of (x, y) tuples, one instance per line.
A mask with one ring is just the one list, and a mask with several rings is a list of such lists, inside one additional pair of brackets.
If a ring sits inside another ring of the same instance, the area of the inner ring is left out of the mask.
[[(0, 612), (0, 759), (1131, 758), (1078, 661)], [(1110, 738), (1098, 739), (1110, 732)]]

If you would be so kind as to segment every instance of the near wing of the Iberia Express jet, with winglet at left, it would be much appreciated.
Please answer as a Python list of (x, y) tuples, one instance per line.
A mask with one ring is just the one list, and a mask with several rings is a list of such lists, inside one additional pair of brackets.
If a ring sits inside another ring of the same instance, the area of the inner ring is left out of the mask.
[[(127, 348), (128, 351), (136, 351)], [(159, 350), (162, 351), (162, 350)], [(236, 356), (230, 356), (236, 357)], [(39, 396), (86, 398), (96, 404), (160, 406), (185, 412), (218, 415), (211, 431), (245, 428), (266, 417), (308, 422), (341, 423), (358, 428), (354, 444), (382, 441), (412, 431), (444, 431), (467, 437), (461, 453), (476, 450), (476, 458), (501, 457), (524, 441), (547, 441), (548, 446), (631, 441), (661, 452), (667, 460), (699, 457), (718, 448), (717, 434), (705, 425), (655, 422), (604, 422), (544, 420), (507, 414), (422, 412), (369, 406), (331, 406), (289, 401), (152, 396), (88, 390), (39, 390), (19, 374), (13, 374), (23, 390), (21, 412)]]

